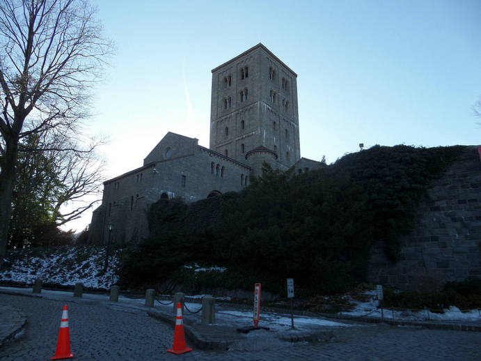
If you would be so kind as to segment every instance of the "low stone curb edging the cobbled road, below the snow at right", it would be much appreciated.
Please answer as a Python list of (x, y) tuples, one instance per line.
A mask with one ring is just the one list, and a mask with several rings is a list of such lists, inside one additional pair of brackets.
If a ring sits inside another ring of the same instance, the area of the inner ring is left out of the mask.
[(393, 326), (407, 326), (415, 328), (428, 328), (430, 330), (453, 330), (453, 331), (470, 331), (481, 332), (481, 325), (468, 325), (466, 323), (436, 323), (436, 321), (423, 322), (423, 321), (401, 321), (393, 320), (389, 318), (377, 318), (377, 317), (358, 317), (348, 316), (344, 314), (319, 314), (325, 318), (334, 318), (340, 320), (349, 320), (357, 322), (368, 323), (387, 323)]

